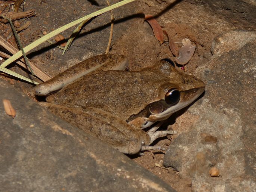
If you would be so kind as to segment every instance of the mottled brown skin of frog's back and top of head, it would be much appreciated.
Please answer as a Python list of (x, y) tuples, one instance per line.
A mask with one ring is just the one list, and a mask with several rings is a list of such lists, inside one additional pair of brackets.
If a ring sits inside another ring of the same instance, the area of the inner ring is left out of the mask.
[(48, 96), (46, 101), (68, 107), (92, 106), (128, 120), (149, 103), (164, 99), (170, 87), (184, 92), (181, 98), (188, 100), (192, 96), (186, 92), (197, 88), (198, 83), (203, 87), (201, 82), (166, 62), (158, 62), (154, 68), (138, 72), (103, 71), (83, 76)]

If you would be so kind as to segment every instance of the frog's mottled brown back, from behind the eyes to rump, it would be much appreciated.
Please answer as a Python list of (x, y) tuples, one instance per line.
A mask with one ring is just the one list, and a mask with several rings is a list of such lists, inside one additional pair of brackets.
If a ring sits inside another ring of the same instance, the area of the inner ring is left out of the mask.
[[(105, 71), (85, 75), (47, 97), (63, 106), (90, 106), (127, 119), (158, 96), (158, 78), (152, 72)], [(157, 78), (157, 79), (156, 79)]]

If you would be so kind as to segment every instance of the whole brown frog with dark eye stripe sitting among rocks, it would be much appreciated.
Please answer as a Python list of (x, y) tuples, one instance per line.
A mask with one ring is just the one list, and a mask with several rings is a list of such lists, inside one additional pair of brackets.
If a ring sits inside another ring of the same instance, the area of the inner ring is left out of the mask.
[(157, 122), (191, 104), (205, 84), (170, 59), (138, 71), (128, 65), (123, 55), (93, 56), (38, 84), (36, 95), (46, 96), (41, 105), (68, 123), (124, 154), (137, 154), (175, 132), (158, 130)]

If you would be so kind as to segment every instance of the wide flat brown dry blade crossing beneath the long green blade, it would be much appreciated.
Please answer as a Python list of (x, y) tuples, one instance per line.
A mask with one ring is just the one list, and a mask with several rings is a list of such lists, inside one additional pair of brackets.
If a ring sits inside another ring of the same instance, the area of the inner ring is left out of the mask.
[[(12, 54), (15, 54), (18, 52), (18, 50), (13, 47), (8, 41), (6, 41), (3, 37), (0, 36), (0, 45), (2, 47), (4, 47), (4, 49), (6, 49), (7, 51), (9, 51), (10, 53)], [(5, 56), (4, 56), (5, 55)], [(5, 54), (4, 53), (3, 57), (4, 58), (10, 58), (9, 55)], [(21, 61), (18, 61), (17, 64), (26, 68), (27, 69), (27, 66), (25, 64), (25, 60), (23, 58), (20, 59)], [(28, 59), (29, 61), (29, 59)], [(52, 78), (49, 74), (47, 74), (46, 72), (42, 71), (41, 69), (39, 69), (33, 62), (29, 61), (30, 62), (30, 65), (31, 65), (31, 68), (33, 69), (34, 71), (34, 74), (40, 78), (42, 81), (47, 81), (49, 80), (50, 78)]]

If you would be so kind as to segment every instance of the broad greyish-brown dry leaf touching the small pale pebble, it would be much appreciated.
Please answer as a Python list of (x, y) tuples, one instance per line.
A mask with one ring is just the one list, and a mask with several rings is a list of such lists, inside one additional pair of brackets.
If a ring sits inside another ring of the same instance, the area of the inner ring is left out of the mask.
[(192, 56), (194, 55), (195, 47), (196, 47), (195, 45), (191, 45), (191, 46), (183, 46), (179, 48), (179, 53), (178, 55), (176, 55), (176, 58), (175, 58), (177, 64), (180, 64), (180, 65), (187, 64), (192, 58)]

